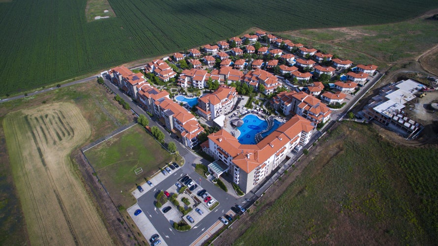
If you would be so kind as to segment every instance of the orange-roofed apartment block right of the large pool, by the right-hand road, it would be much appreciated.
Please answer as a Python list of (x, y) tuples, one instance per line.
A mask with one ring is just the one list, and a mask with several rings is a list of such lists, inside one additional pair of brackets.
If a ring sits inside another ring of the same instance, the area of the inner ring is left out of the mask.
[(271, 105), (284, 115), (302, 116), (310, 120), (313, 125), (326, 123), (332, 113), (327, 105), (306, 92), (280, 92), (272, 98)]

